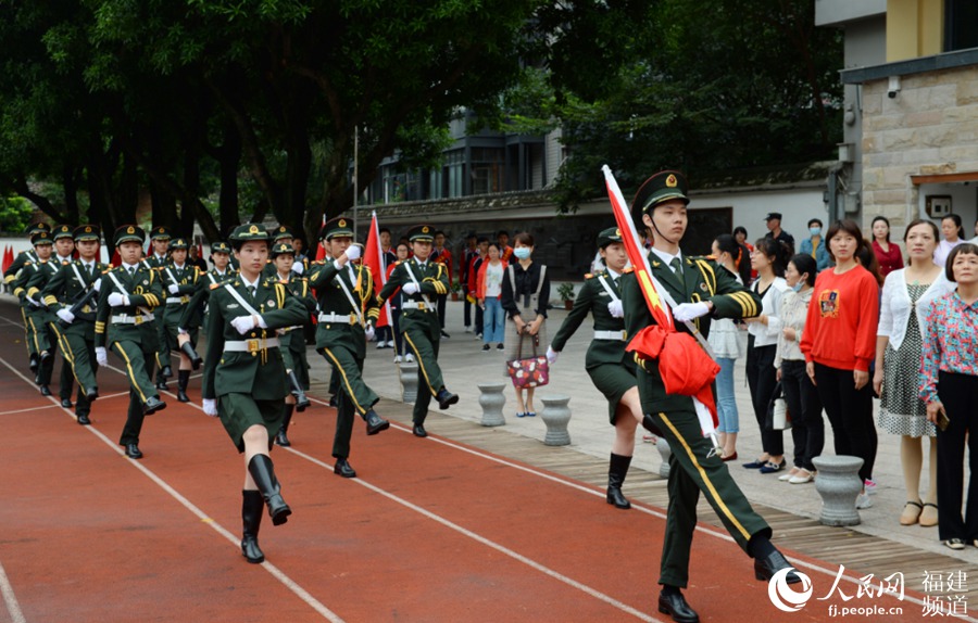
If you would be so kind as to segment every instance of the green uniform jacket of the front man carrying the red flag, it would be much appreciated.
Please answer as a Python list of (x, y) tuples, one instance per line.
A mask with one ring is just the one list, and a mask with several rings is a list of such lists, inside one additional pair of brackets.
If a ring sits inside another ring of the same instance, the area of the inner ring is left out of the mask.
[[(654, 253), (649, 253), (649, 264), (652, 275), (677, 304), (711, 301), (714, 305), (714, 318), (753, 318), (761, 314), (761, 297), (738, 283), (732, 274), (712, 259), (684, 256), (681, 282), (679, 276), (660, 262)], [(622, 304), (625, 307), (625, 329), (629, 339), (655, 323), (635, 272), (622, 276)], [(707, 315), (693, 322), (704, 339), (710, 334), (710, 318), (711, 315)], [(677, 323), (677, 328), (687, 331), (685, 325)], [(690, 396), (666, 394), (657, 360), (636, 358), (636, 364), (642, 408), (647, 412), (693, 410)]]

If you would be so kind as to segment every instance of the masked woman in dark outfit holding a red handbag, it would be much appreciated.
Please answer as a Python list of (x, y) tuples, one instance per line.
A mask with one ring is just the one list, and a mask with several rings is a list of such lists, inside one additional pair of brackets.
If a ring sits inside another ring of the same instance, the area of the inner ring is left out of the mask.
[[(516, 234), (513, 258), (506, 268), (502, 282), (502, 308), (509, 321), (505, 330), (506, 361), (522, 356), (532, 355), (532, 343), (547, 344), (547, 303), (550, 301), (550, 278), (547, 267), (532, 260), (534, 237), (521, 232)], [(539, 348), (539, 346), (538, 346)], [(524, 393), (526, 396), (524, 397)], [(534, 389), (516, 390), (516, 417), (532, 418), (537, 415), (534, 407)]]

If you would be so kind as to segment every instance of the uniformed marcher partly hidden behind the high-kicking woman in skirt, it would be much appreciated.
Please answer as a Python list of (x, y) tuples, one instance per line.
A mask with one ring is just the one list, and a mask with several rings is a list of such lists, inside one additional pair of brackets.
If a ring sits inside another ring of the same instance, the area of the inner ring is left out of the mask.
[[(272, 263), (278, 272), (276, 278), (285, 284), (296, 298), (305, 306), (306, 320), (309, 315), (316, 310), (316, 300), (309, 288), (309, 281), (299, 274), (292, 272), (292, 264), (296, 250), (289, 244), (276, 243), (272, 246)], [(278, 330), (278, 339), (281, 341), (281, 359), (289, 378), (291, 392), (286, 396), (286, 415), (281, 421), (281, 428), (275, 435), (275, 443), (288, 447), (289, 422), (292, 421), (292, 411), (300, 414), (309, 408), (309, 398), (305, 390), (309, 390), (309, 360), (305, 357), (305, 323), (293, 327), (285, 327)]]

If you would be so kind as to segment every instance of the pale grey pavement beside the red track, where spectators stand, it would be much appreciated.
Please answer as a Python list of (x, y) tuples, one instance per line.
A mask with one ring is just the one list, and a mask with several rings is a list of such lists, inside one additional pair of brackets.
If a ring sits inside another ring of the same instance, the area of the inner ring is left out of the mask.
[[(550, 313), (548, 322), (551, 336), (556, 332), (565, 316), (566, 312), (563, 309), (554, 309)], [(446, 330), (451, 338), (441, 341), (439, 363), (447, 386), (457, 393), (461, 400), (443, 412), (478, 422), (481, 419), (481, 408), (478, 404), (479, 391), (476, 383), (485, 382), (487, 379), (506, 380), (504, 378), (505, 361), (501, 351), (493, 348), (484, 353), (480, 349), (481, 343), (476, 340), (475, 334), (464, 332), (462, 319), (462, 303), (450, 301)], [(586, 321), (568, 342), (557, 363), (551, 367), (550, 385), (539, 389), (537, 394), (538, 396), (548, 394), (570, 396), (569, 406), (573, 411), (568, 425), (570, 447), (585, 455), (606, 459), (611, 452), (614, 429), (607, 423), (607, 407), (604, 397), (594, 389), (584, 370), (584, 357), (590, 338), (591, 323)], [(314, 368), (321, 370), (313, 372), (313, 379), (323, 379), (327, 369), (323, 358), (310, 353), (310, 363)], [(377, 349), (375, 344), (368, 344), (364, 377), (380, 396), (400, 399), (401, 390), (397, 366), (393, 364), (392, 349)], [(744, 379), (742, 359), (738, 361), (736, 389), (740, 412), (740, 435), (737, 443), (740, 459), (729, 463), (735, 480), (748, 498), (754, 503), (801, 517), (817, 518), (822, 501), (814, 484), (792, 485), (778, 481), (777, 476), (780, 474), (762, 475), (756, 470), (747, 470), (740, 467), (741, 462), (750, 461), (761, 453), (760, 433), (750, 406), (750, 393)], [(537, 438), (542, 443), (546, 427), (541, 419), (539, 417), (516, 418), (515, 393), (511, 384), (507, 384), (504, 394), (506, 406), (503, 412), (506, 423), (496, 430)], [(437, 409), (437, 404), (432, 406)], [(539, 399), (536, 400), (536, 407), (538, 412), (543, 408)], [(437, 430), (432, 428), (432, 432), (437, 433)], [(636, 433), (637, 447), (631, 469), (643, 469), (656, 473), (661, 458), (652, 444), (642, 443), (643, 432), (639, 430)], [(960, 552), (948, 549), (938, 541), (937, 527), (900, 525), (899, 517), (906, 496), (903, 488), (899, 442), (900, 440), (895, 435), (879, 433), (879, 450), (874, 470), (874, 479), (878, 483), (877, 493), (873, 496), (873, 507), (861, 511), (862, 524), (855, 530), (921, 550), (952, 556), (973, 564), (978, 563), (978, 549), (969, 547)], [(790, 433), (786, 433), (785, 446), (790, 465), (792, 448)], [(826, 454), (831, 454), (831, 428), (826, 420)], [(926, 482), (923, 487), (921, 491), (926, 491)], [(625, 493), (628, 494), (627, 482)]]

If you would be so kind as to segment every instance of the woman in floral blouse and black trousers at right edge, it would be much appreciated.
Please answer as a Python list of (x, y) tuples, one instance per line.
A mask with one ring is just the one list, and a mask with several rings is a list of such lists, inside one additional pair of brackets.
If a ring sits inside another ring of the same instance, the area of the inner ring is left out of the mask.
[[(938, 427), (938, 531), (951, 549), (978, 545), (978, 245), (948, 256), (944, 276), (957, 288), (931, 302), (924, 329), (920, 399)], [(964, 447), (968, 445), (968, 482)], [(968, 501), (962, 518), (962, 491)]]

